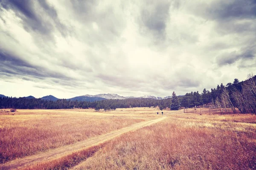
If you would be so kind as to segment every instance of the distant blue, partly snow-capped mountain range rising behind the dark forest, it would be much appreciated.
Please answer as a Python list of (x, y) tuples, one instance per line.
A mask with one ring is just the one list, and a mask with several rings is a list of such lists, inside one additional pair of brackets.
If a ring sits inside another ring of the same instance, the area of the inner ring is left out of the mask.
[[(7, 97), (3, 94), (0, 94), (0, 97)], [(27, 96), (25, 98), (28, 99), (35, 99), (34, 96)], [(83, 96), (76, 96), (67, 100), (71, 100), (71, 101), (100, 101), (100, 100), (105, 100), (105, 99), (131, 99), (131, 98), (150, 98), (150, 99), (157, 99), (157, 100), (161, 100), (161, 99), (168, 99), (168, 98), (172, 98), (172, 96), (166, 96), (166, 97), (157, 97), (157, 96), (141, 96), (141, 97), (134, 97), (134, 96), (119, 96), (118, 94), (96, 94), (96, 95), (90, 95), (90, 94), (86, 94)], [(52, 100), (52, 101), (57, 101), (58, 98), (52, 95), (49, 96), (44, 96), (41, 97), (41, 99), (44, 100)]]

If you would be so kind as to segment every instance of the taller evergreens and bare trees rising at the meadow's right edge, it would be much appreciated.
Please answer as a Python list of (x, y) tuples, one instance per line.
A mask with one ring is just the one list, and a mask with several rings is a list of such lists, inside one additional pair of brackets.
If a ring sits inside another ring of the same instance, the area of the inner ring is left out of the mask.
[(237, 109), (240, 113), (256, 113), (256, 76), (248, 74), (245, 81), (234, 79), (233, 83), (229, 82), (225, 86), (221, 83), (211, 91), (204, 88), (201, 94), (198, 91), (186, 93), (180, 99), (180, 105), (185, 108), (204, 104), (219, 108), (221, 112), (232, 108), (234, 113)]

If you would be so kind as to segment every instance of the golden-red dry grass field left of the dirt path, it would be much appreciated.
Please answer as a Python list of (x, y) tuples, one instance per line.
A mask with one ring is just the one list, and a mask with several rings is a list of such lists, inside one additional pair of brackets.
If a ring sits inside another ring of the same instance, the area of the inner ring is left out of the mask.
[[(82, 112), (86, 111), (86, 112)], [(93, 110), (18, 110), (0, 116), (0, 163), (141, 122)]]

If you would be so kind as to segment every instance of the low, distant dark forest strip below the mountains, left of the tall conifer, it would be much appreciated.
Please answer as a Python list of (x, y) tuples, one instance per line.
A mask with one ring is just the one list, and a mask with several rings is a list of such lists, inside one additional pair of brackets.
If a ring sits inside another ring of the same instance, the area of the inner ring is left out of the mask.
[(0, 97), (0, 108), (16, 109), (70, 109), (70, 108), (95, 108), (96, 110), (115, 110), (116, 108), (131, 107), (156, 107), (163, 105), (168, 107), (171, 99), (155, 100), (149, 98), (134, 99), (105, 99), (101, 101), (71, 101), (67, 99), (58, 99), (57, 101), (44, 99), (28, 99), (24, 97)]

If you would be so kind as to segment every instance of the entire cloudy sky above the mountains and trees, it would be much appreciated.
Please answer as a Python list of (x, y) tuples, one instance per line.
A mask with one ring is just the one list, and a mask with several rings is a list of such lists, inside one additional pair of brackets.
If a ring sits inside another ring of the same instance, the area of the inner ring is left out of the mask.
[(256, 0), (0, 0), (0, 94), (171, 96), (256, 74)]

